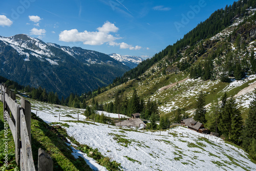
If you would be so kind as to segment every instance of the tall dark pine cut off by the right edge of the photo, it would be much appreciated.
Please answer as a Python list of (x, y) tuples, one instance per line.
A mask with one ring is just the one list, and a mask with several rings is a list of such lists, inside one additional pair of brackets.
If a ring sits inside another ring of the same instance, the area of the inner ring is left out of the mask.
[[(243, 147), (249, 151), (251, 143), (256, 140), (256, 91), (254, 91), (253, 100), (250, 102), (248, 117), (245, 120), (243, 131)], [(256, 152), (256, 150), (255, 150)], [(255, 155), (256, 158), (256, 155)]]

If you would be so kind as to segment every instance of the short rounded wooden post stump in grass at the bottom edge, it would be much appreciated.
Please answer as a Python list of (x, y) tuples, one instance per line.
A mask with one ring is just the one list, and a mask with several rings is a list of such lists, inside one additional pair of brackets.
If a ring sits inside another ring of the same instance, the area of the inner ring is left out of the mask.
[(53, 161), (44, 149), (38, 149), (38, 171), (53, 171)]

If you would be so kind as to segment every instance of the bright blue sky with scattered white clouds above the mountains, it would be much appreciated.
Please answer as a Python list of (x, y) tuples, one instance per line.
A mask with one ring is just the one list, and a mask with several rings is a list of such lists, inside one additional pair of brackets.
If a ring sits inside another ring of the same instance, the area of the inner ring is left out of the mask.
[(152, 57), (233, 1), (8, 0), (0, 35), (19, 33), (61, 46)]

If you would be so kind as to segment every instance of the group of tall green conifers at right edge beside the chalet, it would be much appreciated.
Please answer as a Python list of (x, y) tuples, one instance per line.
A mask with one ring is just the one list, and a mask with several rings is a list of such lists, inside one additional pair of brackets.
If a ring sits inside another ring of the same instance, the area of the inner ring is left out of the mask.
[(242, 113), (233, 97), (226, 93), (212, 102), (209, 112), (205, 109), (205, 96), (201, 92), (196, 99), (194, 119), (211, 132), (219, 133), (226, 141), (242, 146), (256, 159), (256, 91), (249, 105), (248, 117), (243, 122)]

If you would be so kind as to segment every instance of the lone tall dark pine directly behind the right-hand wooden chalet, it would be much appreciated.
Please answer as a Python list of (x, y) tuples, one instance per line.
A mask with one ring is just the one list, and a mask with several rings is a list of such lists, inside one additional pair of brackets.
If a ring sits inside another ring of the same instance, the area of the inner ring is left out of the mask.
[(196, 111), (194, 113), (194, 119), (201, 123), (206, 123), (206, 119), (205, 119), (206, 109), (204, 108), (204, 106), (205, 106), (205, 97), (203, 92), (201, 91), (196, 100)]

